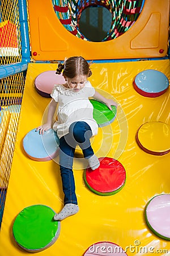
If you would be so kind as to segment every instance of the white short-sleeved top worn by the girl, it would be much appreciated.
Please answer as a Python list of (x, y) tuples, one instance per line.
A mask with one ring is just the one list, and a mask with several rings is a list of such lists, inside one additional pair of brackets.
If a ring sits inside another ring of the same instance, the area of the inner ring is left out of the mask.
[(58, 102), (57, 117), (58, 121), (54, 123), (53, 129), (57, 131), (59, 138), (69, 133), (71, 123), (84, 121), (91, 127), (92, 135), (96, 135), (98, 125), (93, 118), (93, 110), (88, 97), (95, 94), (95, 89), (89, 81), (86, 81), (84, 87), (78, 92), (68, 89), (63, 85), (54, 85), (51, 93), (54, 101)]

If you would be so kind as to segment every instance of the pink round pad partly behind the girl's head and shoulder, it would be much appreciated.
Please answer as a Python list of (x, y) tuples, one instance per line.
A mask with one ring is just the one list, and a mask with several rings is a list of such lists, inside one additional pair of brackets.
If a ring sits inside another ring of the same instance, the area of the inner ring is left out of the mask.
[(56, 71), (42, 72), (35, 79), (35, 89), (42, 97), (50, 98), (55, 84), (65, 84), (62, 74), (57, 75)]

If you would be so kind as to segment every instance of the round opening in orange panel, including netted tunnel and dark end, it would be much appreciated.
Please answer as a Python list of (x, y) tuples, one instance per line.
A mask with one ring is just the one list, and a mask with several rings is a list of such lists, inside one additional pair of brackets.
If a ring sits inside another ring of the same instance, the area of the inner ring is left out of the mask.
[[(140, 15), (145, 0), (52, 0), (54, 11), (71, 34), (102, 42), (121, 36)], [(102, 8), (103, 7), (103, 8)]]

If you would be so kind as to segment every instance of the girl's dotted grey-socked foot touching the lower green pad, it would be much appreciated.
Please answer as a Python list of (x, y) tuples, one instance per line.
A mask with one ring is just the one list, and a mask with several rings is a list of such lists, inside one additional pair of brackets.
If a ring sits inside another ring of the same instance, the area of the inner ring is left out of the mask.
[(63, 220), (71, 215), (74, 215), (79, 211), (79, 207), (77, 204), (66, 204), (61, 212), (54, 215), (54, 220)]

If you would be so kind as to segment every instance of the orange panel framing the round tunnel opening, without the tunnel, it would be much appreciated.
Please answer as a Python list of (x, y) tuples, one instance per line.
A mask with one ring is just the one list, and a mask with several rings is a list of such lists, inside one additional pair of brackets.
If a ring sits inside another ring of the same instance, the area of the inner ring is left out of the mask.
[(63, 60), (83, 55), (91, 59), (163, 57), (168, 48), (169, 0), (146, 0), (134, 25), (116, 39), (87, 42), (59, 22), (52, 0), (28, 0), (31, 49), (35, 60)]

